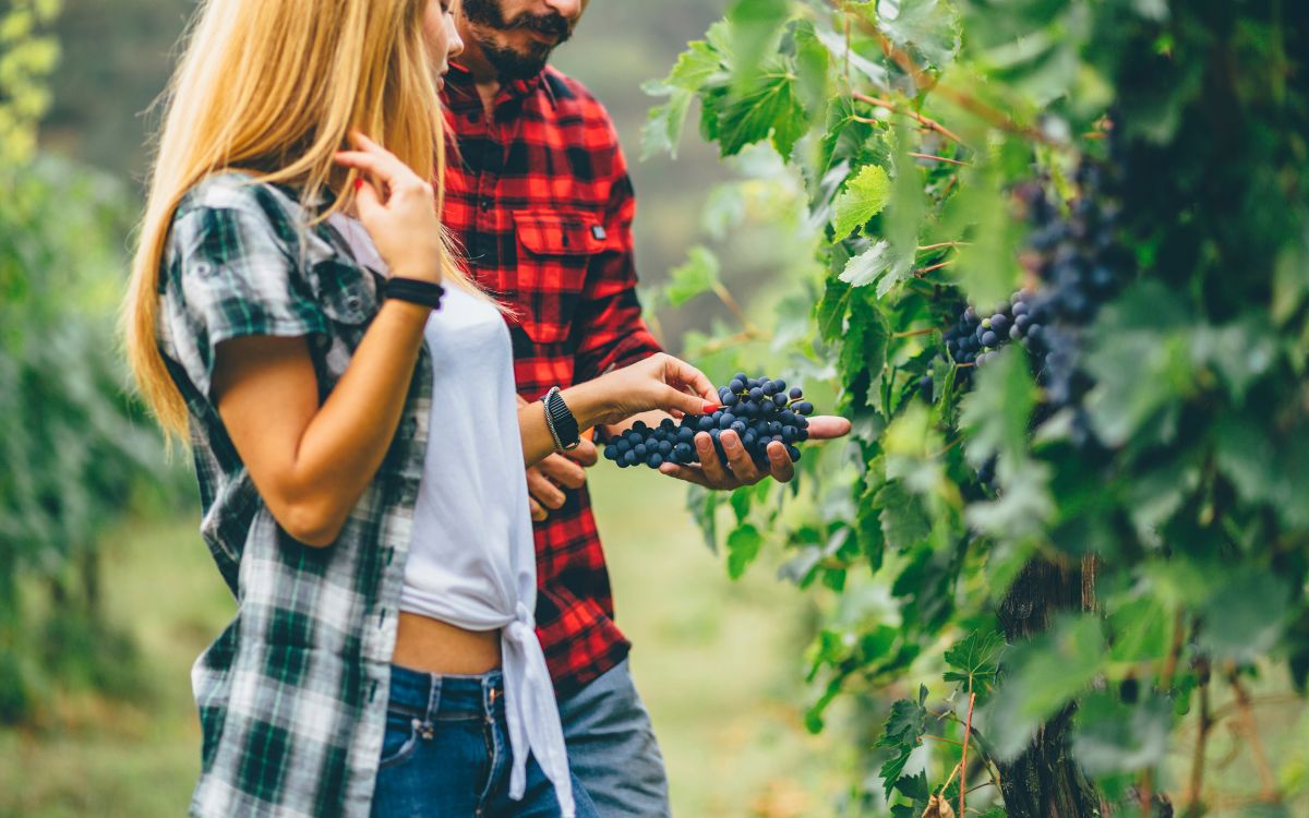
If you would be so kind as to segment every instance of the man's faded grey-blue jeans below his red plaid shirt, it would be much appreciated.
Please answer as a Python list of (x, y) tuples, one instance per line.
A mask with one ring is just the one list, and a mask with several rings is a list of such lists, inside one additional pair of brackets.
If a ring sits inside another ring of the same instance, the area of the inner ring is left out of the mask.
[(559, 700), (568, 766), (602, 818), (670, 818), (668, 774), (627, 661)]

